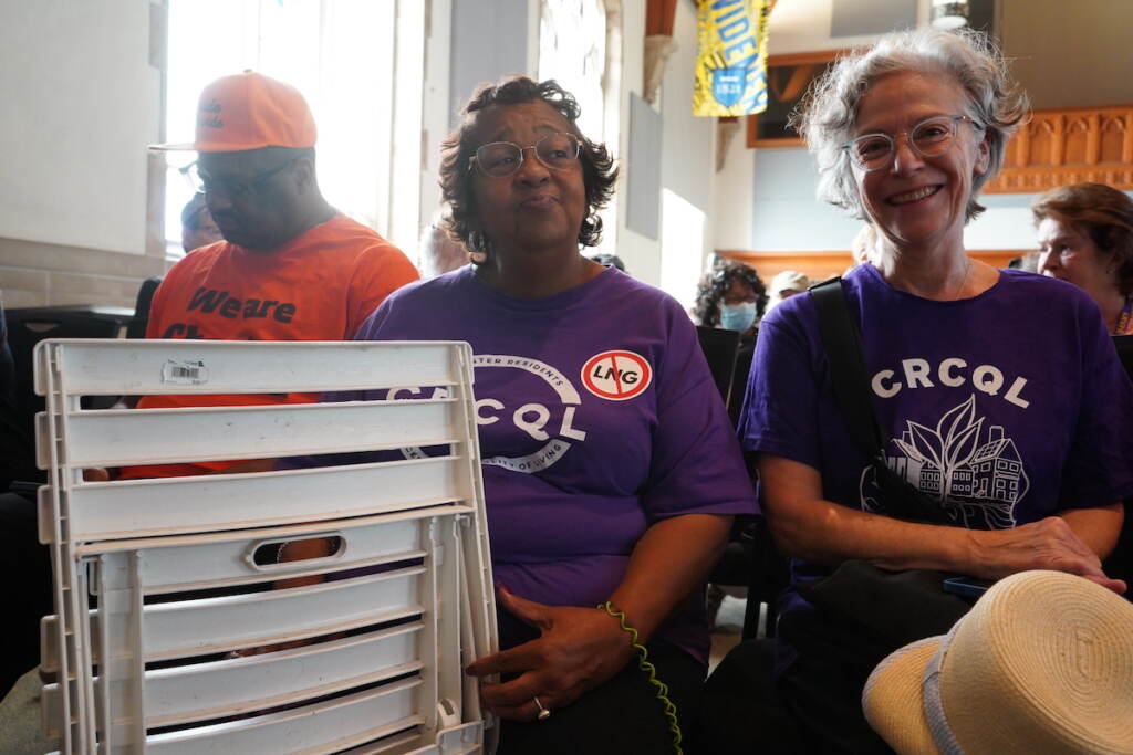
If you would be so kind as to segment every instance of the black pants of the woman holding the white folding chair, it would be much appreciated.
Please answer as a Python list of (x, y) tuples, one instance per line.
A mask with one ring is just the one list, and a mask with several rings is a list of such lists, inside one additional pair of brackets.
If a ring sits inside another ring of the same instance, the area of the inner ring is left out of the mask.
[[(682, 732), (689, 731), (705, 667), (673, 647), (650, 647), (657, 678), (668, 685)], [(698, 750), (682, 745), (690, 755)], [(632, 660), (616, 676), (545, 721), (504, 721), (497, 755), (653, 755), (672, 753), (673, 735), (656, 688)]]

